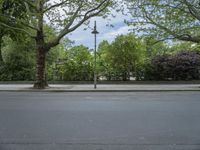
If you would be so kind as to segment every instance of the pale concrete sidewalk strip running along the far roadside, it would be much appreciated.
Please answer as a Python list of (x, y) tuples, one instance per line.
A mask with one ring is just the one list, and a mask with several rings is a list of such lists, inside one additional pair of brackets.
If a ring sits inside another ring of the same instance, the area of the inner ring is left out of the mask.
[(200, 91), (200, 84), (100, 84), (94, 89), (92, 84), (50, 84), (48, 88), (37, 90), (32, 84), (0, 84), (0, 91), (9, 92), (162, 92)]

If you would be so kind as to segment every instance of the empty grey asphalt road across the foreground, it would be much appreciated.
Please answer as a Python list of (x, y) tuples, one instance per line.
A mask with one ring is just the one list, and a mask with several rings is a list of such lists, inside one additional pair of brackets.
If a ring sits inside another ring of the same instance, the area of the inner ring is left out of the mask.
[(200, 150), (200, 92), (0, 92), (0, 150)]

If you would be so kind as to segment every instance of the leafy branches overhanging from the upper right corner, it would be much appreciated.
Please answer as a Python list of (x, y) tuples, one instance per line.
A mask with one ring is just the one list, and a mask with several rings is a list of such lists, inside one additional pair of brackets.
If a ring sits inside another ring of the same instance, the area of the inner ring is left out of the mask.
[(199, 0), (127, 0), (129, 22), (159, 40), (200, 43)]

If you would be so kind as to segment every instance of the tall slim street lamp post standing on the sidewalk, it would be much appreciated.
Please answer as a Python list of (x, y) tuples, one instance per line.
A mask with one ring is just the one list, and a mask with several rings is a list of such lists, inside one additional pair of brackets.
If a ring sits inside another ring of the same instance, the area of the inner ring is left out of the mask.
[(99, 32), (97, 31), (97, 25), (96, 21), (94, 22), (94, 30), (92, 31), (92, 34), (94, 34), (94, 88), (97, 88), (97, 75), (96, 75), (96, 60), (97, 60), (97, 34)]

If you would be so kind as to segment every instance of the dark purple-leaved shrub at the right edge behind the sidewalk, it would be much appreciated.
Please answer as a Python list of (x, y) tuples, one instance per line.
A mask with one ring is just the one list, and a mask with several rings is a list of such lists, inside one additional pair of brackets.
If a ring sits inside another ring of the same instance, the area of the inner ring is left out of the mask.
[(180, 51), (154, 57), (145, 66), (145, 80), (197, 80), (200, 78), (200, 54)]

